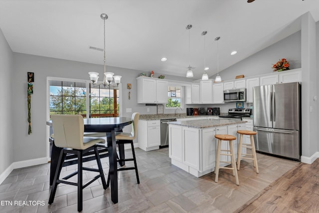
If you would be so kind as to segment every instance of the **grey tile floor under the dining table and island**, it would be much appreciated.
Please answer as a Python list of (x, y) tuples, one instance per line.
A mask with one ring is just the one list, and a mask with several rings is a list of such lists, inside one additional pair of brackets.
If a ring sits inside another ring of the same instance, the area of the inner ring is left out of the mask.
[[(130, 154), (126, 150), (126, 155)], [(134, 170), (119, 172), (119, 203), (113, 204), (110, 189), (104, 191), (101, 182), (95, 181), (83, 191), (83, 213), (231, 213), (299, 164), (257, 154), (260, 173), (255, 173), (252, 161), (243, 160), (238, 171), (240, 185), (236, 186), (228, 170), (220, 171), (217, 184), (213, 173), (196, 178), (171, 165), (168, 148), (151, 152), (137, 148), (136, 155), (141, 183), (137, 184)], [(108, 174), (108, 158), (101, 160)], [(95, 161), (84, 164), (97, 167)], [(13, 170), (0, 185), (0, 213), (77, 212), (74, 186), (60, 184), (54, 203), (48, 205), (49, 167), (50, 164), (43, 164)], [(76, 165), (64, 167), (61, 175), (70, 174), (75, 168)], [(85, 172), (84, 180), (96, 174)]]

